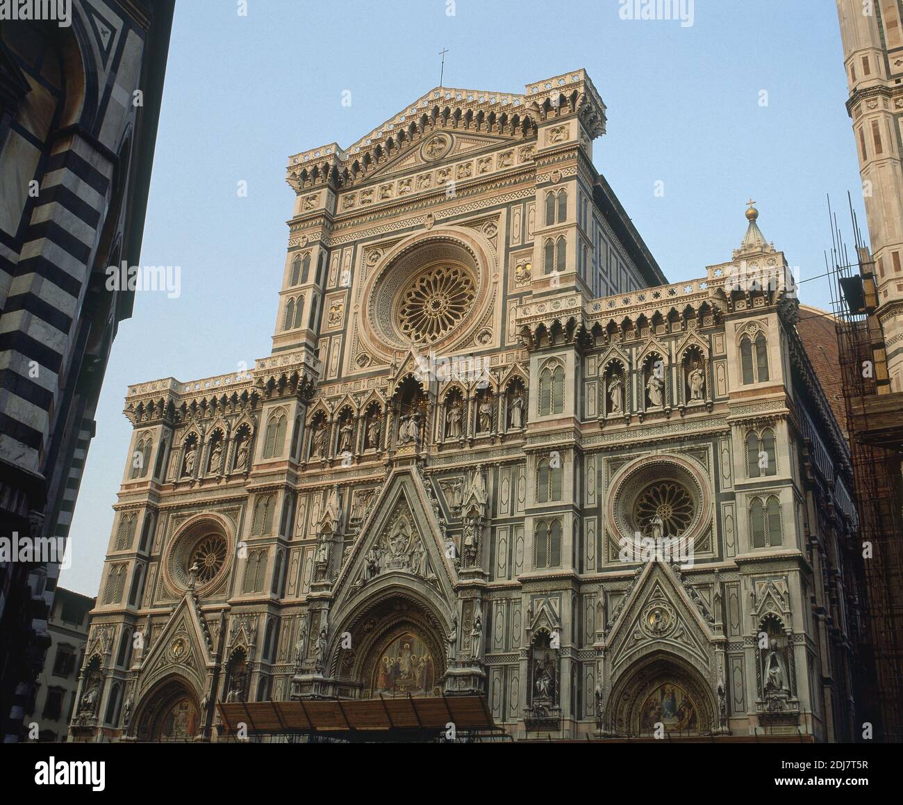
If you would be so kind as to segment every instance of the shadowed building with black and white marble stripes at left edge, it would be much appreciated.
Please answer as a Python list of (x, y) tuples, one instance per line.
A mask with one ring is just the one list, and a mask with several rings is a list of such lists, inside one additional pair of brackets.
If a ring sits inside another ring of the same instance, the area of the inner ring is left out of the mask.
[(172, 8), (75, 0), (69, 21), (0, 29), (0, 537), (57, 538), (0, 563), (7, 741), (43, 664), (100, 383), (131, 314), (105, 269), (138, 263)]

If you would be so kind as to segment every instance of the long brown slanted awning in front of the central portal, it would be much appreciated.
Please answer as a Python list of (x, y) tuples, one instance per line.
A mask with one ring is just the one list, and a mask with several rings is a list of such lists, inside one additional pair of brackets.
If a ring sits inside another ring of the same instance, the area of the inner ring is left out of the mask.
[(456, 734), (500, 733), (479, 696), (371, 699), (299, 699), (287, 702), (220, 702), (228, 735), (322, 735), (338, 740), (391, 741)]

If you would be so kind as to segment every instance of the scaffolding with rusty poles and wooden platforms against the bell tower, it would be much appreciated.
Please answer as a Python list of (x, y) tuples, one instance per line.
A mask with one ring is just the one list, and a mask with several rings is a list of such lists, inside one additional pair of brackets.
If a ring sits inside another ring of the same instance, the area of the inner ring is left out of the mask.
[[(874, 261), (864, 245), (850, 200), (855, 258), (850, 259), (831, 211), (832, 248), (825, 254), (831, 277), (843, 400), (862, 549), (851, 551), (864, 623), (857, 709), (873, 739), (903, 742), (903, 538), (900, 528), (899, 393), (887, 382), (885, 346), (875, 315)], [(870, 545), (871, 555), (867, 554)], [(869, 737), (863, 726), (863, 737)]]

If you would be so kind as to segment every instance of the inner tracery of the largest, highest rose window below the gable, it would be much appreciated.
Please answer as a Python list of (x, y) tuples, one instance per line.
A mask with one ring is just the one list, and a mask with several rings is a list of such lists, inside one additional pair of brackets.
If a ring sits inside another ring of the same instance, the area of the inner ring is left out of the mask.
[(435, 266), (417, 276), (401, 297), (402, 332), (416, 342), (433, 343), (451, 332), (470, 310), (476, 287), (460, 266)]

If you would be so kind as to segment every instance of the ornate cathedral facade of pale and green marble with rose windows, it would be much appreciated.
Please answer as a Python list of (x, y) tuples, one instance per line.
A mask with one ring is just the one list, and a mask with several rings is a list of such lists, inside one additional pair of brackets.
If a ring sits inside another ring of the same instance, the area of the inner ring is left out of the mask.
[(849, 456), (785, 257), (750, 205), (667, 284), (605, 111), (582, 70), (438, 88), (291, 157), (272, 353), (128, 390), (74, 739), (475, 694), (517, 739), (852, 738)]

